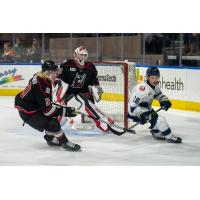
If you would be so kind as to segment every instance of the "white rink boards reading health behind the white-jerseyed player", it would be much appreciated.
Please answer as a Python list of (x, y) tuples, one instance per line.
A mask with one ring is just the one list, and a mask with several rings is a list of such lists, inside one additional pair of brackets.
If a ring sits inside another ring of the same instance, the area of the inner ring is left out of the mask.
[[(136, 69), (138, 82), (144, 79), (148, 66), (140, 66)], [(159, 86), (163, 94), (172, 101), (173, 108), (200, 112), (200, 68), (159, 66)], [(159, 106), (158, 101), (154, 101)]]

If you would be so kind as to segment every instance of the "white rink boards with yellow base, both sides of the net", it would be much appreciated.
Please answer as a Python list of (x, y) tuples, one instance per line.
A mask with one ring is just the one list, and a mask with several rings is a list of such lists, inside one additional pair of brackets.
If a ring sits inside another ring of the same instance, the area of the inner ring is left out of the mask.
[[(136, 76), (138, 82), (144, 79), (148, 66), (138, 66)], [(40, 65), (0, 65), (0, 95), (14, 96), (28, 83), (34, 73), (40, 71)], [(200, 68), (159, 66), (160, 88), (173, 103), (173, 108), (200, 112)], [(123, 101), (117, 90), (104, 97), (116, 97)], [(159, 105), (157, 101), (154, 105)]]

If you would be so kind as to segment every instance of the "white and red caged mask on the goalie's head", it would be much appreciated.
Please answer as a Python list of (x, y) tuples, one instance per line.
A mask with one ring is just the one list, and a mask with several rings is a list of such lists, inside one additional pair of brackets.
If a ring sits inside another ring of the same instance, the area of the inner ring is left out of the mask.
[(80, 46), (75, 49), (74, 60), (78, 62), (78, 64), (84, 65), (87, 58), (88, 58), (88, 52), (83, 46)]

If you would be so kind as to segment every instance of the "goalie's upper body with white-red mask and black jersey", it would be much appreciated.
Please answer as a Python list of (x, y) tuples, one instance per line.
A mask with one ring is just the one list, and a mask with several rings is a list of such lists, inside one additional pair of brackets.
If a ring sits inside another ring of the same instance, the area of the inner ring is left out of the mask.
[[(88, 52), (80, 46), (75, 49), (73, 59), (65, 60), (59, 69), (59, 78), (68, 84), (66, 96), (83, 94), (94, 103), (93, 88), (98, 90), (100, 100), (103, 93), (97, 78), (97, 70), (92, 62), (87, 61)], [(92, 88), (92, 89), (91, 89)]]

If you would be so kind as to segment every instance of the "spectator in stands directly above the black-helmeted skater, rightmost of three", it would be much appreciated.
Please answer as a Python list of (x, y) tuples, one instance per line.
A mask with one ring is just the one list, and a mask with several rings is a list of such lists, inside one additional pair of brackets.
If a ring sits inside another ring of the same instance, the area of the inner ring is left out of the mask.
[(27, 51), (27, 61), (30, 63), (41, 62), (41, 48), (38, 39), (33, 38), (32, 46)]

